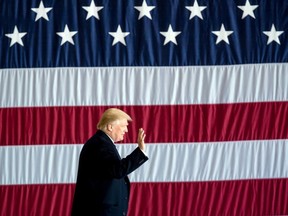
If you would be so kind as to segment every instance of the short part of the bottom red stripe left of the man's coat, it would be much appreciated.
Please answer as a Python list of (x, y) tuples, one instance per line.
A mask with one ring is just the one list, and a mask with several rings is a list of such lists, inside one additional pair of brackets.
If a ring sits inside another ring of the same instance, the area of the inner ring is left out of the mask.
[(70, 215), (74, 184), (0, 185), (0, 215)]

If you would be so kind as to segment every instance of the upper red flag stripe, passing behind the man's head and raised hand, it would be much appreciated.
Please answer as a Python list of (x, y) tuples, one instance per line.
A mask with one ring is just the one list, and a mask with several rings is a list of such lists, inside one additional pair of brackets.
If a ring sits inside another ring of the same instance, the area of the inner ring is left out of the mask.
[[(83, 143), (106, 108), (1, 108), (0, 145)], [(136, 141), (141, 126), (147, 143), (288, 138), (288, 102), (119, 108), (134, 119), (127, 143)]]

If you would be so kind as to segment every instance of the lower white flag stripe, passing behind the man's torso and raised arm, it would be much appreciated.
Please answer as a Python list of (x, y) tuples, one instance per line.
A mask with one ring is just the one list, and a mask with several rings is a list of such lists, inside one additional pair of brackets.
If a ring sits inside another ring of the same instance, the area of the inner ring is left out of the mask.
[[(74, 183), (82, 145), (0, 147), (0, 184)], [(117, 145), (121, 155), (135, 144)], [(132, 182), (288, 177), (288, 140), (147, 145)]]

